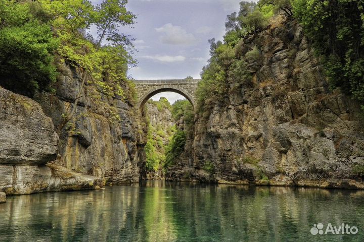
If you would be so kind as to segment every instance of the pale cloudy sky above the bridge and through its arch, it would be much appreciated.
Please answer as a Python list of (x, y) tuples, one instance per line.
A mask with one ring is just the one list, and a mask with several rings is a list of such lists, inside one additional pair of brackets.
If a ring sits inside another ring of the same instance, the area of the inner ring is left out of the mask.
[[(200, 78), (209, 59), (208, 40), (221, 40), (226, 15), (239, 11), (241, 0), (129, 0), (127, 10), (136, 15), (133, 28), (120, 31), (135, 38), (138, 65), (129, 71), (134, 79)], [(184, 99), (160, 93), (173, 103)]]

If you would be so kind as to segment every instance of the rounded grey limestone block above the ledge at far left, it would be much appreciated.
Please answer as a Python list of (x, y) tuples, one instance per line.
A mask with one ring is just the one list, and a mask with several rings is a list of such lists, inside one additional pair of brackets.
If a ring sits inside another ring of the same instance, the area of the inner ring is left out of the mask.
[(0, 164), (45, 164), (55, 160), (57, 143), (37, 102), (0, 87)]

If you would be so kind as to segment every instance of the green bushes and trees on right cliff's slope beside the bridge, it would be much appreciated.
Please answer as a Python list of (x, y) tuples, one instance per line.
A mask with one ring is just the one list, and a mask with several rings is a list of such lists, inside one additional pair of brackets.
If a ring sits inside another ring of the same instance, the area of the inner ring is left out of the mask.
[(203, 113), (204, 118), (209, 116), (213, 103), (228, 98), (229, 91), (242, 85), (252, 86), (248, 63), (259, 61), (260, 50), (254, 47), (245, 56), (239, 56), (240, 43), (248, 34), (265, 29), (272, 13), (272, 7), (257, 8), (253, 2), (241, 2), (239, 13), (227, 16), (223, 42), (209, 40), (211, 57), (202, 69), (202, 81), (196, 90), (197, 111)]

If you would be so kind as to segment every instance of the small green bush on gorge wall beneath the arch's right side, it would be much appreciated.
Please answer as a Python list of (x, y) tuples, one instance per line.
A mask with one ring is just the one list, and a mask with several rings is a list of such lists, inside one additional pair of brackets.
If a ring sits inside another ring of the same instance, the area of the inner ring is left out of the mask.
[(165, 166), (175, 164), (176, 160), (185, 150), (186, 134), (182, 130), (177, 130), (166, 147)]

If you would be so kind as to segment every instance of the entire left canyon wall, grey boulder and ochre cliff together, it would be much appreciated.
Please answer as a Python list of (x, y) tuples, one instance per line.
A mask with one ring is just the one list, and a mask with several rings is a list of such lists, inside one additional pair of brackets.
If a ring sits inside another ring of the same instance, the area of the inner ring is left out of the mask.
[[(0, 88), (0, 191), (30, 194), (138, 182), (147, 132), (140, 112), (127, 98), (104, 95), (89, 80), (82, 87), (81, 70), (65, 63), (58, 70), (55, 93), (30, 99)], [(126, 93), (128, 88), (123, 86)]]

